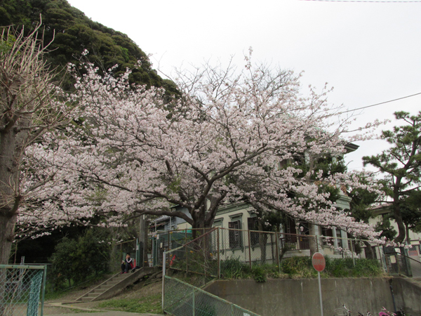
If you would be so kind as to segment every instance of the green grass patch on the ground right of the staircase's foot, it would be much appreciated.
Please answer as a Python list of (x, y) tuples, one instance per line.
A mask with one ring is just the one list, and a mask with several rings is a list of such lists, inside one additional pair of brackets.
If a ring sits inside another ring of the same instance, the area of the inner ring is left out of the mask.
[(122, 312), (151, 312), (154, 314), (162, 314), (161, 294), (145, 296), (142, 300), (138, 298), (116, 299), (102, 302), (98, 305), (100, 308), (108, 310), (120, 310)]

